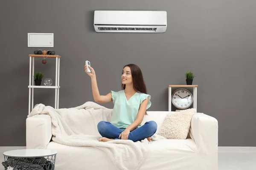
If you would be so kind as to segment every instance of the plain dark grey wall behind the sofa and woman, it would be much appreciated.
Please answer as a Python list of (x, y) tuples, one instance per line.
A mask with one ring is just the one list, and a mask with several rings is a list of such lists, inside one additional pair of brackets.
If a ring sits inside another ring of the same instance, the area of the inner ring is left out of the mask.
[[(219, 146), (256, 146), (255, 6), (253, 0), (1, 1), (0, 146), (26, 145), (28, 54), (37, 49), (27, 47), (28, 32), (54, 33), (54, 48), (43, 49), (61, 55), (60, 108), (93, 101), (87, 59), (102, 95), (121, 90), (123, 65), (139, 65), (152, 96), (149, 111), (168, 111), (167, 86), (185, 84), (191, 70), (198, 112), (218, 119)], [(93, 11), (104, 9), (166, 10), (168, 28), (164, 34), (96, 33)], [(54, 80), (54, 59), (35, 62), (35, 71)], [(35, 89), (35, 104), (54, 106), (54, 94)]]

